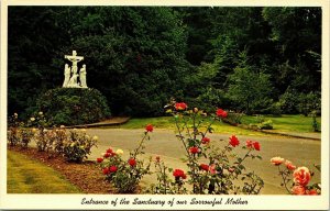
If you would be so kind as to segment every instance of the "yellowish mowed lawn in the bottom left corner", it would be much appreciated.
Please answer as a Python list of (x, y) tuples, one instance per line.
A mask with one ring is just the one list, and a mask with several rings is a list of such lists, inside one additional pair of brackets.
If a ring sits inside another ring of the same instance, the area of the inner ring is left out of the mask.
[(8, 193), (80, 193), (53, 168), (12, 151), (7, 156)]

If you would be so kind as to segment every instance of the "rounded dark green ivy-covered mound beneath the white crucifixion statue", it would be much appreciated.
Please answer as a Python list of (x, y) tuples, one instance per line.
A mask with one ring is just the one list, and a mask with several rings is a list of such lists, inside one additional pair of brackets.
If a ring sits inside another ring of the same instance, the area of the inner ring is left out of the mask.
[(106, 98), (97, 89), (56, 88), (41, 95), (36, 101), (48, 123), (77, 125), (94, 123), (110, 116)]

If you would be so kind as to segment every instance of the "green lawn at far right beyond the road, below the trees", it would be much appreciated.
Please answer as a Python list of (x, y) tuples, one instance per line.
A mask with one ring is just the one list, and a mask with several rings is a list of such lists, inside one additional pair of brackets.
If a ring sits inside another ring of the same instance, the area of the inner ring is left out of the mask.
[[(301, 132), (301, 133), (310, 133), (314, 132), (312, 129), (312, 119), (310, 116), (304, 115), (286, 115), (282, 116), (267, 116), (264, 115), (265, 121), (272, 120), (274, 132), (283, 131), (283, 132)], [(319, 124), (319, 130), (321, 130), (321, 118), (317, 118), (317, 122)], [(257, 118), (251, 115), (244, 115), (242, 118), (243, 124), (257, 124)]]

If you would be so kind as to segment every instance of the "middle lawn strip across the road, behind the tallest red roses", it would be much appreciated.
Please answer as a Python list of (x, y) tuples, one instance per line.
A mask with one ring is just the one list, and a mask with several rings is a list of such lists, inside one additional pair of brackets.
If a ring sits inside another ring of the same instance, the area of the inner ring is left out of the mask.
[[(206, 119), (204, 122), (202, 130), (206, 129), (206, 125), (210, 123), (209, 119)], [(131, 119), (128, 123), (120, 125), (121, 129), (144, 129), (145, 125), (152, 124), (155, 130), (156, 129), (167, 129), (167, 130), (175, 130), (175, 119), (174, 116), (160, 116), (160, 118), (134, 118)], [(232, 126), (230, 124), (226, 124), (220, 121), (216, 121), (212, 124), (215, 133), (224, 133), (224, 134), (235, 134), (235, 135), (260, 135), (260, 136), (267, 136), (261, 132), (250, 131), (245, 129), (241, 129), (238, 126)]]

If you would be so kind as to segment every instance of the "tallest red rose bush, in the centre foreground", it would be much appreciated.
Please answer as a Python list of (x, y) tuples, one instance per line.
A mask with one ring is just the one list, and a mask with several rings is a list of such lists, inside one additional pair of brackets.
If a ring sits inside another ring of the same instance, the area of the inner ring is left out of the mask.
[[(168, 111), (167, 111), (168, 112)], [(245, 173), (243, 162), (246, 158), (260, 158), (254, 153), (261, 149), (258, 142), (248, 141), (242, 148), (245, 151), (243, 157), (239, 157), (231, 152), (240, 145), (235, 135), (229, 138), (224, 148), (220, 148), (212, 143), (208, 133), (212, 133), (211, 125), (215, 121), (226, 119), (228, 113), (218, 109), (216, 114), (208, 114), (197, 108), (188, 110), (184, 102), (174, 103), (172, 113), (175, 118), (177, 138), (183, 143), (187, 164), (188, 185), (193, 193), (246, 193), (256, 195), (264, 186), (263, 180), (254, 173)], [(206, 162), (208, 160), (208, 162)], [(176, 171), (178, 174), (178, 171)], [(243, 187), (238, 184), (244, 180)], [(164, 184), (165, 186), (165, 184)]]

